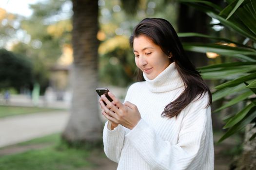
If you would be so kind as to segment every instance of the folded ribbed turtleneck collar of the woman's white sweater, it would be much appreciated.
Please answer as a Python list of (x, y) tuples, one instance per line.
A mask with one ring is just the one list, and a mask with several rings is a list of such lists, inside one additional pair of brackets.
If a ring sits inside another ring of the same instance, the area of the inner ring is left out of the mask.
[(175, 62), (171, 63), (153, 80), (149, 80), (145, 73), (143, 73), (143, 77), (149, 90), (155, 93), (167, 92), (184, 86)]

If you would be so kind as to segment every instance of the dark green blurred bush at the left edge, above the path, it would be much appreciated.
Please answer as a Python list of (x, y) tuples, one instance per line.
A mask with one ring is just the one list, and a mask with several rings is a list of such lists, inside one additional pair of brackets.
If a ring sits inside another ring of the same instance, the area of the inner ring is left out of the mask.
[(0, 49), (0, 91), (13, 87), (20, 91), (33, 83), (32, 63), (5, 49)]

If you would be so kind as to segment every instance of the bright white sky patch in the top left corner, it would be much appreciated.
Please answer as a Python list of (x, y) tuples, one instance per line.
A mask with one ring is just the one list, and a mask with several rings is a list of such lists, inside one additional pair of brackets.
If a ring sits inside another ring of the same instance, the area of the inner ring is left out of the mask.
[(32, 10), (29, 9), (29, 4), (34, 4), (38, 1), (42, 0), (0, 0), (0, 8), (13, 14), (29, 17), (32, 14)]

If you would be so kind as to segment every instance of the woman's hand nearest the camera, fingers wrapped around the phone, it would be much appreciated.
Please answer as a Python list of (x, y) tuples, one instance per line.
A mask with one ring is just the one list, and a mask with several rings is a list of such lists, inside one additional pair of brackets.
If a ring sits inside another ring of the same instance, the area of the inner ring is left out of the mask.
[(114, 123), (133, 129), (141, 119), (137, 106), (131, 102), (121, 103), (111, 92), (108, 92), (108, 95), (113, 99), (113, 102), (110, 102), (105, 95), (100, 97), (107, 104), (105, 105), (100, 101), (103, 109), (102, 114)]

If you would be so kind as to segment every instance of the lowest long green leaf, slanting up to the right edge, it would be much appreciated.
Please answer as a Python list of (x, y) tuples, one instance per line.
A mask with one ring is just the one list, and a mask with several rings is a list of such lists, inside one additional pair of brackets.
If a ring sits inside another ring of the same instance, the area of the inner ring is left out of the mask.
[(253, 119), (256, 118), (256, 111), (250, 111), (250, 114), (247, 114), (241, 121), (239, 121), (235, 126), (231, 127), (219, 140), (217, 143), (220, 143), (229, 136), (239, 132), (247, 124), (249, 124)]

